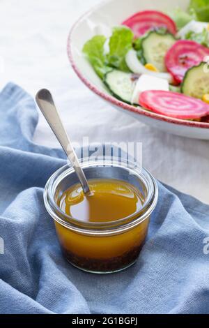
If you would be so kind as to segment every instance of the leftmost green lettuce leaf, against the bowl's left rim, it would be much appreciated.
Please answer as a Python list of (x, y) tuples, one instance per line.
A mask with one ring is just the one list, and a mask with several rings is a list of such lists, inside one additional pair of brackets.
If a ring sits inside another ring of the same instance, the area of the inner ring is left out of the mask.
[(107, 56), (104, 54), (105, 42), (105, 36), (93, 36), (83, 47), (84, 54), (86, 54), (86, 57), (101, 79), (111, 70), (108, 66)]

